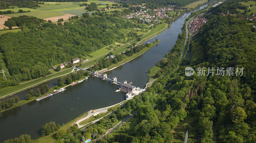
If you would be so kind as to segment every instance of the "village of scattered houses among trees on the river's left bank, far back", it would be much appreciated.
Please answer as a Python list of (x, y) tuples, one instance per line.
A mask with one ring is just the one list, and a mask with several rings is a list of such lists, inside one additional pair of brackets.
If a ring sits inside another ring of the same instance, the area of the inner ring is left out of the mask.
[[(136, 6), (136, 5), (135, 5)], [(140, 6), (140, 5), (139, 5)], [(144, 8), (142, 6), (142, 8)], [(166, 14), (165, 11), (173, 11), (173, 8), (170, 8), (170, 7), (167, 7), (167, 8), (159, 8), (159, 9), (154, 9), (153, 11), (156, 11), (156, 14), (151, 16), (149, 14), (149, 9), (140, 9), (140, 11), (138, 12), (132, 12), (130, 14), (127, 14), (127, 15), (124, 15), (124, 18), (138, 18), (140, 20), (143, 21), (143, 23), (145, 22), (151, 22), (153, 21), (153, 23), (156, 23), (156, 22), (160, 22), (160, 20), (158, 20), (157, 18), (168, 18), (168, 15)], [(151, 25), (154, 25), (153, 23), (151, 23)]]

